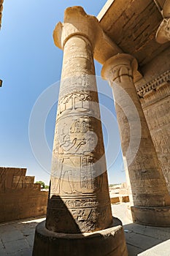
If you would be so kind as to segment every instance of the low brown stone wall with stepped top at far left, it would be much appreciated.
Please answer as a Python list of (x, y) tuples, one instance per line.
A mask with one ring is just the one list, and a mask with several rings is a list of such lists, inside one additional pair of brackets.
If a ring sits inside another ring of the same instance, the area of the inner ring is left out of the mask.
[(26, 168), (0, 167), (0, 222), (45, 215), (47, 197)]

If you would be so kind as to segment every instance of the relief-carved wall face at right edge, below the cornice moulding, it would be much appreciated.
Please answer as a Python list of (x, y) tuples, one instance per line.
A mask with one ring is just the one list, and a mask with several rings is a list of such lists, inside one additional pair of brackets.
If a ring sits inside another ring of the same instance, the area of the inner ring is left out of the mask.
[[(162, 94), (166, 91), (161, 87)], [(165, 86), (166, 87), (166, 86)], [(158, 92), (156, 91), (155, 94)], [(163, 95), (164, 95), (163, 94)], [(152, 141), (158, 155), (158, 159), (166, 179), (167, 187), (170, 192), (170, 113), (169, 113), (169, 97), (162, 97), (155, 101), (153, 105), (147, 105), (144, 108), (144, 115), (150, 129)], [(154, 117), (154, 118), (153, 118)]]

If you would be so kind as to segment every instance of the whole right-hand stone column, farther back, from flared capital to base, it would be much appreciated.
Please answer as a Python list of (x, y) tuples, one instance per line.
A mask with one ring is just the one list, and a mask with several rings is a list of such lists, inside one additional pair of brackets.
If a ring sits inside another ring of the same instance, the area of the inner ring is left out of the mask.
[(105, 62), (101, 75), (109, 80), (115, 98), (134, 222), (166, 226), (170, 225), (170, 197), (136, 94), (133, 81), (136, 70), (136, 59), (121, 53)]

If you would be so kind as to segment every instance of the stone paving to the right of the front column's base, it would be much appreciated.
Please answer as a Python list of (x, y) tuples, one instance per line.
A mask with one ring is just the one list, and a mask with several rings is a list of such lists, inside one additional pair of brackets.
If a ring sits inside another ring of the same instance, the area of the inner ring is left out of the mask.
[(126, 215), (126, 203), (112, 205), (112, 214), (123, 222), (129, 256), (170, 256), (170, 227), (132, 223)]

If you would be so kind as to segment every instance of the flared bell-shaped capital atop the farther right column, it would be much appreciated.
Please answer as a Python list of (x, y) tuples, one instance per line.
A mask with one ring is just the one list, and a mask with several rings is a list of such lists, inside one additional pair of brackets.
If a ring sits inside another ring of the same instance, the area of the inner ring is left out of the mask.
[(126, 53), (118, 53), (104, 63), (101, 69), (101, 77), (109, 81), (119, 78), (120, 82), (122, 76), (128, 76), (133, 79), (134, 73), (137, 72), (137, 67), (137, 61), (133, 56)]

